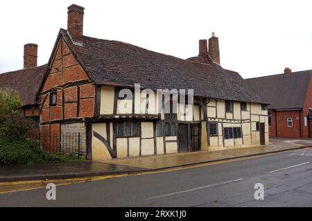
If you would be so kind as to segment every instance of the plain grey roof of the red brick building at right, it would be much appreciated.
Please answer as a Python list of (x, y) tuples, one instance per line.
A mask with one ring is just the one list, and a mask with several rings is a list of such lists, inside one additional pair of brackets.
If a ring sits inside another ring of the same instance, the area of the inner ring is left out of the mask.
[(312, 70), (304, 70), (290, 74), (255, 77), (245, 81), (271, 104), (268, 108), (296, 109), (304, 106), (311, 76)]

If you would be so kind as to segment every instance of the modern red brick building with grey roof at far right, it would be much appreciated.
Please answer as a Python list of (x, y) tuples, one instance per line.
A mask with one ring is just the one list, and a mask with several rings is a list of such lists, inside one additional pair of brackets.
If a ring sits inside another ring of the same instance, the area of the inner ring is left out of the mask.
[(312, 137), (312, 70), (245, 79), (268, 106), (270, 137)]

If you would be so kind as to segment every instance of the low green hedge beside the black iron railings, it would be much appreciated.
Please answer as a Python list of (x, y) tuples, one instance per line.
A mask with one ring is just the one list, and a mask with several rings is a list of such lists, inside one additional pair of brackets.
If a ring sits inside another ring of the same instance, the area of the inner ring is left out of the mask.
[(46, 162), (69, 162), (80, 160), (74, 155), (45, 153), (39, 144), (29, 144), (27, 140), (0, 138), (0, 166), (32, 165)]

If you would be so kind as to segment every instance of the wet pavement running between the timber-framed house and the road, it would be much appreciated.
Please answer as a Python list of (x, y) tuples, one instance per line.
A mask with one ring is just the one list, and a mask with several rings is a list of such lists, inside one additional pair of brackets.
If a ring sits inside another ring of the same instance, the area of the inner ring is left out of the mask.
[(232, 160), (309, 146), (312, 140), (271, 139), (268, 146), (229, 148), (222, 151), (199, 151), (123, 159), (0, 167), (0, 182), (19, 180), (64, 179), (100, 175), (118, 175), (171, 169), (221, 160)]

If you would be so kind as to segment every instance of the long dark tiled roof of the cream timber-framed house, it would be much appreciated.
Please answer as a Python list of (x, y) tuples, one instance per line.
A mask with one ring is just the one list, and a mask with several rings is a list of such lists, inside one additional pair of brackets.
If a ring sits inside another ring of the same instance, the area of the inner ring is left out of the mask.
[(75, 44), (64, 29), (60, 35), (96, 84), (133, 87), (137, 83), (153, 90), (193, 88), (198, 97), (265, 103), (239, 73), (214, 63), (199, 64), (121, 41), (86, 36), (83, 45)]

